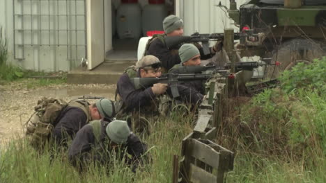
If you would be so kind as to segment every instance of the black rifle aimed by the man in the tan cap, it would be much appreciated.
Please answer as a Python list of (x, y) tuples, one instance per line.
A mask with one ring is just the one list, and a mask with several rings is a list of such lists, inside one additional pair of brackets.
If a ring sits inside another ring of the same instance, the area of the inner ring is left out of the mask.
[(212, 78), (212, 74), (203, 73), (166, 73), (158, 78), (130, 78), (132, 84), (134, 84), (135, 89), (147, 88), (155, 83), (168, 83), (171, 89), (173, 98), (180, 96), (178, 92), (177, 84), (178, 82), (186, 80), (208, 80)]

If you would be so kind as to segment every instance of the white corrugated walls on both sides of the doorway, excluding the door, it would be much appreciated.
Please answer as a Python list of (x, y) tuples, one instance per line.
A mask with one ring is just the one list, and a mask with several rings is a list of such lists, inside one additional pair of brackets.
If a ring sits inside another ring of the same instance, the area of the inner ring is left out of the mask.
[[(223, 33), (231, 27), (233, 21), (217, 7), (219, 1), (229, 7), (229, 0), (180, 0), (185, 35)], [(238, 6), (245, 1), (237, 0)], [(85, 6), (85, 0), (1, 0), (0, 26), (14, 61), (36, 71), (77, 66), (86, 57)]]

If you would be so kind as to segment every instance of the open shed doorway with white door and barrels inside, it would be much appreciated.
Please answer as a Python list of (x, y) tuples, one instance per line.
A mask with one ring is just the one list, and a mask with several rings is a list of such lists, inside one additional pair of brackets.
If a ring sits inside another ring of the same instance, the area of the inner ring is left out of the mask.
[[(162, 30), (174, 0), (87, 0), (88, 69), (104, 62), (136, 62), (139, 39)], [(132, 63), (131, 63), (132, 64)]]

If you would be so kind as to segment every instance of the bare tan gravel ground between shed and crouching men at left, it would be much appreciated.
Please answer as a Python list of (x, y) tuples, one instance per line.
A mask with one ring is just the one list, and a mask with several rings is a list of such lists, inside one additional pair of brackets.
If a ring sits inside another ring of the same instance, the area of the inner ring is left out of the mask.
[[(33, 114), (33, 107), (42, 96), (70, 101), (83, 95), (114, 99), (116, 85), (49, 85), (27, 89), (29, 80), (0, 85), (0, 144), (24, 135), (24, 123)], [(91, 103), (93, 101), (90, 101)]]

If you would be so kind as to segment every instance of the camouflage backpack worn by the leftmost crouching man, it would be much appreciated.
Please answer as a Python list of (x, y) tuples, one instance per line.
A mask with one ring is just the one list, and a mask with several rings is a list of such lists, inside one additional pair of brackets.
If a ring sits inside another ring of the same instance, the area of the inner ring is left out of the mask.
[(41, 98), (34, 107), (34, 113), (26, 122), (26, 138), (32, 146), (42, 148), (49, 139), (49, 134), (54, 128), (56, 119), (61, 114), (61, 111), (68, 105), (79, 107), (83, 110), (89, 120), (88, 105), (85, 100), (74, 100), (66, 103), (62, 99), (57, 98)]

